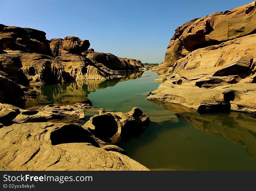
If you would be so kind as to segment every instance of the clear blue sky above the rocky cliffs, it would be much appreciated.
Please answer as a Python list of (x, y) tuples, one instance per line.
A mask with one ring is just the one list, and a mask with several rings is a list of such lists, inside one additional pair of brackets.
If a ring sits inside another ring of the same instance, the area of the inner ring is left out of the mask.
[(45, 31), (47, 39), (77, 36), (90, 48), (161, 63), (175, 28), (250, 1), (0, 1), (0, 22)]

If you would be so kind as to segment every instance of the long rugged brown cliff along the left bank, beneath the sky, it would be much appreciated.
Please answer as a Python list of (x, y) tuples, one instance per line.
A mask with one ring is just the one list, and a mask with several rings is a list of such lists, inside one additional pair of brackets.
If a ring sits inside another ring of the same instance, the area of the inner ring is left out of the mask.
[[(8, 78), (8, 83), (19, 85), (106, 80), (122, 77), (118, 71), (144, 67), (140, 60), (97, 53), (89, 47), (89, 40), (78, 37), (47, 40), (43, 31), (0, 24), (0, 71), (5, 74), (0, 80)], [(0, 101), (11, 103), (6, 91), (1, 88)], [(20, 97), (20, 93), (14, 95), (15, 99)]]

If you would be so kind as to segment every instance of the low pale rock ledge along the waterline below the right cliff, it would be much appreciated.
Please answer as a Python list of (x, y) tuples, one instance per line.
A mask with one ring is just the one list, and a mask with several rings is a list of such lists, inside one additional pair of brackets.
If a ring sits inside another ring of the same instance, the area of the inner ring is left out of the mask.
[(236, 110), (256, 115), (255, 93), (256, 87), (252, 83), (199, 88), (193, 81), (173, 84), (172, 80), (167, 80), (147, 99), (182, 104), (199, 113)]

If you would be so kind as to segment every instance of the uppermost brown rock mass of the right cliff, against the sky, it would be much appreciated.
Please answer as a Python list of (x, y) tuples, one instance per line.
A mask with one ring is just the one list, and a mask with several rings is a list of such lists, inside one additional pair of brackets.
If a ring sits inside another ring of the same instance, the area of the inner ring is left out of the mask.
[(175, 30), (158, 72), (167, 72), (189, 51), (256, 32), (255, 1), (244, 6), (193, 19)]

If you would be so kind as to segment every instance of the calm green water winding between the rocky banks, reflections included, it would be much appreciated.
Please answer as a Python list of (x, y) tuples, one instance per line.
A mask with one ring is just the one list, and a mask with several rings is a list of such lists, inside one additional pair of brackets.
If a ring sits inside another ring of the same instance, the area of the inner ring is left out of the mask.
[[(256, 170), (256, 119), (243, 113), (199, 115), (184, 107), (150, 103), (147, 93), (159, 83), (154, 72), (126, 73), (104, 82), (78, 81), (33, 87), (25, 108), (79, 103), (90, 99), (94, 108), (127, 112), (138, 107), (151, 123), (138, 138), (118, 144), (127, 155), (157, 170)], [(86, 120), (97, 109), (87, 112)], [(83, 123), (83, 122), (81, 122)]]

